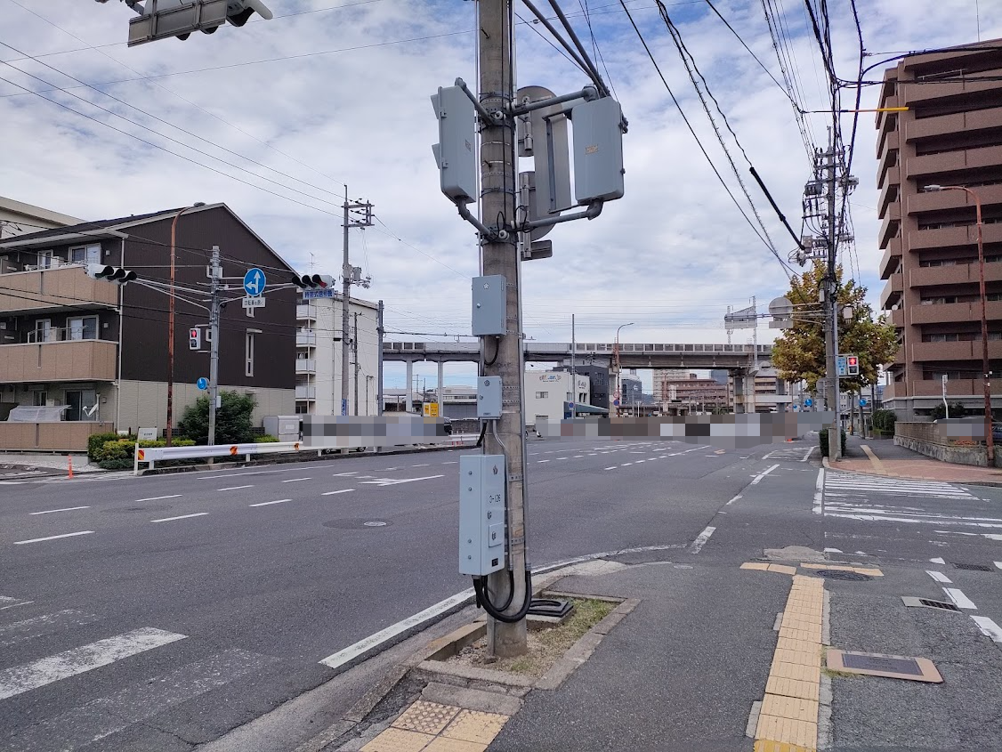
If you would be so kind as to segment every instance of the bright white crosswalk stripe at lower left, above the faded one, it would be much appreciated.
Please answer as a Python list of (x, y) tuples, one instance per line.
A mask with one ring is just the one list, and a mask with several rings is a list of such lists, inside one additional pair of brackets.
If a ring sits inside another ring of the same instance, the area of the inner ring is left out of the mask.
[(44, 687), (60, 679), (108, 666), (115, 661), (169, 645), (185, 637), (173, 632), (143, 627), (0, 671), (0, 700)]

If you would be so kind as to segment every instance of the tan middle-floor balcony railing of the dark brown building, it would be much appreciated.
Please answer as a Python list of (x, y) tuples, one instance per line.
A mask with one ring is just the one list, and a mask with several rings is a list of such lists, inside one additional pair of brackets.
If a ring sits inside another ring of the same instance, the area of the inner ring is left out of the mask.
[(118, 343), (63, 340), (0, 347), (0, 382), (113, 381)]

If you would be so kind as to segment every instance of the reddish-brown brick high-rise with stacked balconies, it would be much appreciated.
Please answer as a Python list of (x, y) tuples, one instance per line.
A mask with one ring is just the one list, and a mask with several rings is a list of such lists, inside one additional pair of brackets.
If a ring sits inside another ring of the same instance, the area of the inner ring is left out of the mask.
[[(983, 404), (975, 205), (983, 206), (990, 368), (1002, 373), (1002, 40), (912, 55), (884, 74), (877, 115), (881, 308), (901, 342), (884, 407), (922, 419), (942, 402)], [(1002, 406), (1002, 380), (992, 381)]]

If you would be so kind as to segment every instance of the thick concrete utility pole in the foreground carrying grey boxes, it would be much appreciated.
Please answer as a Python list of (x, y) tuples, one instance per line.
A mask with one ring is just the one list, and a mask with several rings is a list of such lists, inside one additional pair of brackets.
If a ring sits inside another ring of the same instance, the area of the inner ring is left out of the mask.
[[(515, 222), (515, 196), (518, 192), (515, 162), (515, 128), (508, 114), (515, 94), (514, 28), (512, 0), (481, 0), (477, 4), (480, 42), (480, 101), (490, 112), (502, 111), (504, 116), (492, 117), (480, 132), (481, 192), (480, 216), (492, 231), (481, 242), (481, 263), (484, 275), (503, 275), (507, 280), (507, 331), (498, 338), (497, 356), (484, 361), (485, 376), (500, 376), (502, 416), (496, 421), (496, 432), (484, 437), (487, 454), (504, 454), (508, 472), (508, 540), (509, 567), (514, 573), (511, 582), (514, 594), (502, 613), (517, 615), (525, 599), (525, 419), (522, 398), (524, 357), (522, 345), (522, 286), (520, 278), (517, 233), (497, 227)], [(491, 365), (487, 365), (490, 362)], [(488, 591), (497, 602), (507, 600), (509, 574), (504, 570), (488, 577)], [(505, 658), (526, 651), (526, 623), (514, 624), (487, 619), (487, 642), (492, 655)]]

